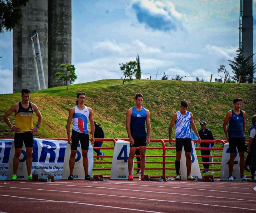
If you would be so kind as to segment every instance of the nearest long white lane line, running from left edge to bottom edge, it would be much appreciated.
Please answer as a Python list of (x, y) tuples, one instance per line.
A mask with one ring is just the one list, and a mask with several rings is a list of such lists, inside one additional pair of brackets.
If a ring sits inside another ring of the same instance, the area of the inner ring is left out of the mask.
[(89, 206), (96, 206), (96, 207), (123, 209), (123, 210), (129, 210), (129, 211), (150, 212), (150, 213), (164, 213), (164, 212), (159, 212), (159, 211), (148, 211), (148, 210), (144, 210), (144, 209), (143, 209), (143, 210), (140, 210), (140, 209), (133, 209), (133, 208), (115, 207), (115, 206), (109, 206), (109, 205), (96, 205), (96, 204), (79, 203), (79, 202), (70, 202), (70, 201), (55, 201), (55, 200), (38, 199), (38, 198), (29, 198), (29, 197), (20, 197), (20, 196), (12, 196), (12, 195), (1, 195), (1, 194), (0, 194), (0, 196), (12, 197), (12, 198), (32, 199), (32, 200), (48, 201), (48, 202), (72, 203), (72, 204), (79, 204), (79, 205), (89, 205)]

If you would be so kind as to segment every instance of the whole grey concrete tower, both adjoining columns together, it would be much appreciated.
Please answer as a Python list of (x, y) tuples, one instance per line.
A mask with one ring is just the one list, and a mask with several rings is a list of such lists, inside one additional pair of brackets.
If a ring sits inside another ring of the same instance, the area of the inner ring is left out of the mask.
[[(13, 29), (13, 92), (37, 90), (31, 32), (39, 35), (46, 88), (58, 86), (59, 64), (71, 64), (71, 0), (32, 0), (22, 8), (21, 24)], [(50, 58), (50, 61), (48, 59)], [(41, 68), (38, 63), (41, 88)]]

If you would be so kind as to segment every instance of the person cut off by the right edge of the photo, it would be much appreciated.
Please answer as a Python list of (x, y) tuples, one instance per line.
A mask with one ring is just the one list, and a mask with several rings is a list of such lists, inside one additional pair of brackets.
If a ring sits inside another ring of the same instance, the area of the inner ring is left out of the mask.
[(252, 117), (252, 126), (250, 128), (250, 138), (248, 152), (251, 153), (251, 179), (255, 180), (256, 167), (256, 115)]

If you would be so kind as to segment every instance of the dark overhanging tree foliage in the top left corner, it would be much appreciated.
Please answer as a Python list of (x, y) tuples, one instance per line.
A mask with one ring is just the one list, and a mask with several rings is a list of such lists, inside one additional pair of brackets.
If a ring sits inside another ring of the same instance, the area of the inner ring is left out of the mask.
[(21, 7), (25, 7), (29, 0), (1, 0), (0, 1), (0, 33), (11, 31), (20, 24)]

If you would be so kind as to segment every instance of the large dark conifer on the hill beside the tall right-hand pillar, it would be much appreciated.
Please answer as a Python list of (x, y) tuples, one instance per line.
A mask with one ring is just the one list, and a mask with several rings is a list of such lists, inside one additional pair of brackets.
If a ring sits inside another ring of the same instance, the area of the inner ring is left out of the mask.
[(241, 83), (252, 83), (253, 82), (253, 74), (256, 72), (256, 65), (252, 63), (253, 55), (245, 58), (243, 54), (243, 48), (238, 48), (236, 50), (237, 54), (234, 57), (234, 60), (228, 60), (230, 63), (230, 67), (232, 68), (232, 72), (235, 74), (232, 77), (237, 82), (239, 81), (239, 76), (241, 75)]

